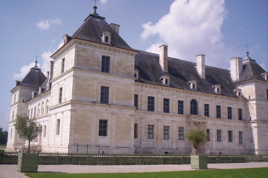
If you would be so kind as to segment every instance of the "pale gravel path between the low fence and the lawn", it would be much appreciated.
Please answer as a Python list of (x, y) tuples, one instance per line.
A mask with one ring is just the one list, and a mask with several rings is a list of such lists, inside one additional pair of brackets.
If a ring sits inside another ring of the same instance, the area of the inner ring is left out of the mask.
[[(239, 169), (268, 167), (268, 163), (208, 164), (208, 169)], [(38, 165), (43, 173), (116, 173), (116, 172), (162, 172), (191, 171), (190, 164), (184, 165), (124, 165), (124, 166), (84, 166), (84, 165)], [(17, 165), (0, 165), (0, 178), (27, 178), (17, 171)]]

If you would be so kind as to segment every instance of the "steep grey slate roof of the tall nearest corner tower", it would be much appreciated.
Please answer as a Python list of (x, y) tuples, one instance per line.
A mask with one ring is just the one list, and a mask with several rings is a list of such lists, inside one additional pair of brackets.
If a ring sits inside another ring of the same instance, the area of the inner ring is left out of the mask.
[(111, 33), (111, 46), (133, 50), (104, 19), (99, 15), (90, 14), (72, 37), (102, 43), (100, 36), (103, 32), (108, 31)]

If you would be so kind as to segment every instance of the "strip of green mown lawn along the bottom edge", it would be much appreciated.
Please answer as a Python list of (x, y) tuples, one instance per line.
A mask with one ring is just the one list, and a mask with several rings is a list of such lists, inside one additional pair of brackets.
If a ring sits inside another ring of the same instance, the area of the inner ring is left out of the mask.
[(214, 169), (214, 170), (198, 170), (198, 171), (172, 171), (172, 172), (143, 172), (143, 173), (88, 173), (88, 174), (68, 174), (68, 173), (27, 173), (25, 174), (32, 178), (136, 178), (136, 177), (146, 177), (146, 178), (157, 178), (157, 177), (189, 177), (189, 178), (234, 178), (234, 177), (268, 177), (268, 167), (266, 168), (247, 168), (247, 169)]

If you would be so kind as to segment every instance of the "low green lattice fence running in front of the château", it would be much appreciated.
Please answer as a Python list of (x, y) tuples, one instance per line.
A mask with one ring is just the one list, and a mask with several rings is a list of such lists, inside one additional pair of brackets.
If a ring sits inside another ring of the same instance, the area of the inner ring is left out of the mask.
[[(190, 164), (190, 154), (118, 154), (40, 152), (39, 164), (155, 165)], [(268, 162), (268, 155), (207, 155), (208, 163)], [(0, 152), (0, 164), (17, 164), (18, 152)]]

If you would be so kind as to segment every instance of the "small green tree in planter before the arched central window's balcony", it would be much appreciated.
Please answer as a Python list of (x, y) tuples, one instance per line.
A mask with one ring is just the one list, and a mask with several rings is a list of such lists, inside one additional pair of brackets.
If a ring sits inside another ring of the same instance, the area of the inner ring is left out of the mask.
[[(190, 131), (186, 134), (187, 139), (191, 143), (191, 145), (197, 149), (198, 147), (198, 153), (199, 153), (199, 148), (205, 144), (208, 140), (208, 134), (204, 132), (203, 128), (200, 129), (195, 129), (191, 128)], [(197, 150), (196, 150), (197, 154)]]

